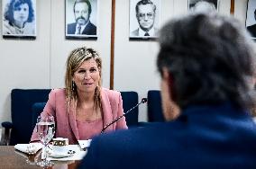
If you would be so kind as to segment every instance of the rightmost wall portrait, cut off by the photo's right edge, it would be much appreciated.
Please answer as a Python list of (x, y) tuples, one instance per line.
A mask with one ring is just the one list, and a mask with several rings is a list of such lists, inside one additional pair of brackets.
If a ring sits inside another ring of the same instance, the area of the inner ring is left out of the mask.
[(251, 37), (256, 39), (256, 0), (249, 0), (246, 13), (246, 28)]

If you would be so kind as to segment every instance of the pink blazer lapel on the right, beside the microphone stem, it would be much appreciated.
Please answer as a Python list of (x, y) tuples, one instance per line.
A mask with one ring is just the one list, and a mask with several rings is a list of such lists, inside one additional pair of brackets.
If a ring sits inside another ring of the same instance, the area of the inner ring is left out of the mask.
[[(111, 101), (109, 100), (109, 97), (107, 93), (104, 91), (104, 89), (101, 90), (101, 105), (102, 105), (102, 111), (103, 111), (103, 127), (105, 127), (107, 124), (111, 123), (113, 119), (112, 114), (112, 108), (111, 108)], [(113, 130), (113, 125), (109, 126), (105, 131), (111, 131)]]

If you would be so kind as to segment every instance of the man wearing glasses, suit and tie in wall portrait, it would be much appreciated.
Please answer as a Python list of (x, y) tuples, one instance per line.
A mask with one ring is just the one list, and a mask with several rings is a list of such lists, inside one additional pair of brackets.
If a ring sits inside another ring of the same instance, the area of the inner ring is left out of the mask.
[(140, 0), (135, 6), (136, 19), (139, 28), (130, 32), (131, 37), (155, 37), (158, 29), (155, 27), (156, 4), (151, 0)]

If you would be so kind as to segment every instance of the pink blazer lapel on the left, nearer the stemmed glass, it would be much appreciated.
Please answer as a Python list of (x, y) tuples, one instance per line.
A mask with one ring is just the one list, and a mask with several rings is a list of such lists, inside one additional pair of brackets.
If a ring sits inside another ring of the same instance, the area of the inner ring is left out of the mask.
[(69, 125), (71, 126), (71, 129), (78, 140), (79, 135), (78, 135), (77, 120), (76, 120), (76, 107), (77, 107), (77, 102), (74, 102), (74, 100), (72, 100), (69, 106), (68, 116), (69, 116)]

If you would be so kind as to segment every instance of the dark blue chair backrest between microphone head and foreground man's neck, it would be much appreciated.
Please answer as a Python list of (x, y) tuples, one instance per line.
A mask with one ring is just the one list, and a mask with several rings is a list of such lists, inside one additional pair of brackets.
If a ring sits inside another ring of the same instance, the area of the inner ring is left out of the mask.
[(148, 119), (149, 122), (164, 121), (159, 90), (148, 91)]

